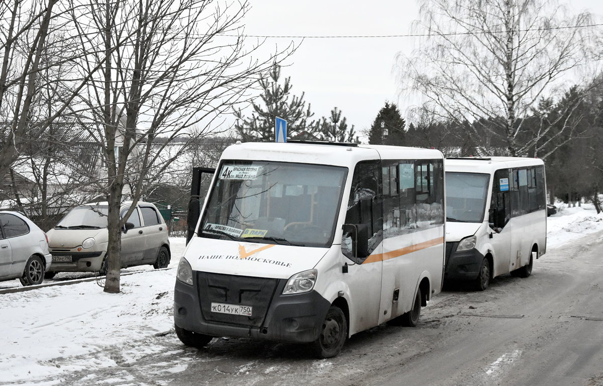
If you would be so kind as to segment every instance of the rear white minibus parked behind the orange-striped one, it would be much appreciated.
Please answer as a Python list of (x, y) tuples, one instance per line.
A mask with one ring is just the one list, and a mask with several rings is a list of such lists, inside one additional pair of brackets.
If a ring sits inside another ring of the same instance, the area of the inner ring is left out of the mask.
[(546, 180), (540, 159), (446, 159), (444, 282), (476, 289), (505, 273), (528, 277), (546, 252)]

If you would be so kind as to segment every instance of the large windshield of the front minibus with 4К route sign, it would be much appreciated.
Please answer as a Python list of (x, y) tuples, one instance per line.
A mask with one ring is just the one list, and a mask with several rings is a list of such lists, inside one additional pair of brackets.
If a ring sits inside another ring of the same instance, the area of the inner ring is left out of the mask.
[(329, 247), (347, 168), (227, 161), (201, 220), (204, 238)]

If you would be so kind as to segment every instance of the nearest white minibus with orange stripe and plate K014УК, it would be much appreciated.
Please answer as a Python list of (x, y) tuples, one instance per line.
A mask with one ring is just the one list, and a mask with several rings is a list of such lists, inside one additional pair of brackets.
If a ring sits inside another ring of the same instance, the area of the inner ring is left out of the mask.
[(444, 199), (437, 150), (231, 145), (178, 266), (178, 338), (309, 343), (329, 358), (381, 323), (415, 326), (441, 290)]

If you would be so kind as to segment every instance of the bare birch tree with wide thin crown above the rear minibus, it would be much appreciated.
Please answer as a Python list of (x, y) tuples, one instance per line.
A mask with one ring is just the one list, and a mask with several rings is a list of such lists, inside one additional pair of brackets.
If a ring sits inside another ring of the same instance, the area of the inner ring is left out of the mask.
[[(414, 28), (426, 36), (410, 57), (399, 54), (400, 89), (418, 93), (444, 120), (469, 122), (476, 139), (490, 141), (478, 143), (482, 153), (502, 142), (508, 155), (541, 156), (575, 120), (556, 131), (559, 122), (543, 125), (526, 138), (523, 118), (598, 59), (589, 51), (590, 24), (588, 13), (570, 15), (548, 0), (420, 0)], [(486, 135), (473, 125), (480, 119)]]

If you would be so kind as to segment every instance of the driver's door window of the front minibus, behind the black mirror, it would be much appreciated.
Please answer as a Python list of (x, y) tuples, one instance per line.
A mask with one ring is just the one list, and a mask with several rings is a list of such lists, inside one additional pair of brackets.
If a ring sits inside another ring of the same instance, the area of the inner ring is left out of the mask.
[[(383, 239), (383, 215), (380, 200), (381, 173), (379, 160), (358, 162), (354, 169), (352, 189), (347, 204), (346, 224), (368, 226), (369, 255)], [(356, 263), (361, 264), (362, 261)]]

